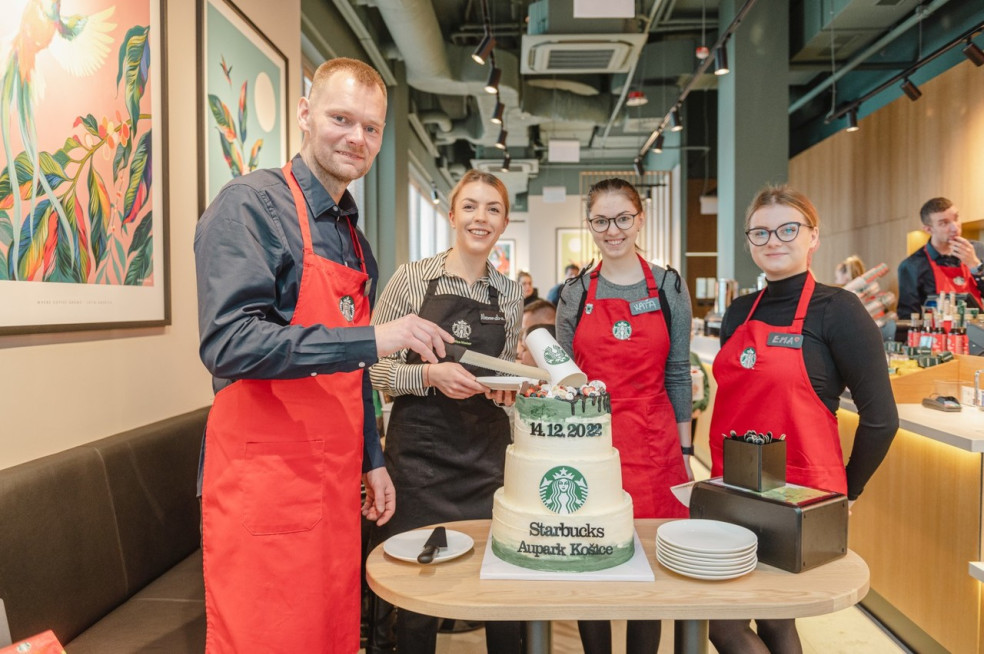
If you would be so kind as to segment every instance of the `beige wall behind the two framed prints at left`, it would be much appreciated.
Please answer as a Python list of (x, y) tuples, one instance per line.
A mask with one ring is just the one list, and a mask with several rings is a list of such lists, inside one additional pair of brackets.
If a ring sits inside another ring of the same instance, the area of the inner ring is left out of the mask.
[[(300, 144), (293, 116), (300, 97), (300, 0), (236, 4), (290, 59), (287, 118), (293, 152)], [(192, 253), (198, 217), (195, 5), (167, 3), (172, 323), (159, 329), (0, 337), (0, 468), (212, 401), (198, 359)]]

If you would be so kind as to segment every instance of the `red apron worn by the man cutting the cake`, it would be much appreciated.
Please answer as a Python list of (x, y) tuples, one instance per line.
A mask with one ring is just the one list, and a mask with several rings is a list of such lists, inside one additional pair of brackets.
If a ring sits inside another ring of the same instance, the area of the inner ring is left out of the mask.
[[(368, 325), (364, 261), (358, 271), (314, 253), (283, 171), (304, 239), (291, 325)], [(216, 395), (202, 490), (209, 654), (358, 651), (363, 374), (245, 379)]]

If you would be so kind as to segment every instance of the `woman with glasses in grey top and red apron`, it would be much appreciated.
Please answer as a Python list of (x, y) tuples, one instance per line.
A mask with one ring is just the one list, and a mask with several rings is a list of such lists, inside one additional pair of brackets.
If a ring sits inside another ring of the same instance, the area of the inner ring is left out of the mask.
[[(636, 189), (606, 179), (588, 191), (588, 231), (601, 251), (568, 282), (557, 307), (557, 340), (612, 397), (612, 441), (636, 518), (685, 518), (670, 486), (690, 471), (690, 296), (676, 271), (636, 252), (646, 215)], [(611, 651), (607, 621), (578, 623), (586, 654)], [(630, 621), (629, 654), (656, 652), (659, 621)]]

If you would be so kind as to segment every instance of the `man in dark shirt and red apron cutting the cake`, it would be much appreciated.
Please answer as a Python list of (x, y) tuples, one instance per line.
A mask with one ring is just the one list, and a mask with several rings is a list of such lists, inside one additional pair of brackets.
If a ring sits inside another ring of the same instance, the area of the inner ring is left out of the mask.
[(198, 223), (210, 654), (359, 648), (360, 477), (362, 515), (396, 508), (365, 371), (404, 348), (436, 362), (452, 340), (415, 315), (369, 326), (378, 272), (346, 188), (385, 117), (375, 70), (323, 64), (298, 105), (300, 154), (228, 184)]

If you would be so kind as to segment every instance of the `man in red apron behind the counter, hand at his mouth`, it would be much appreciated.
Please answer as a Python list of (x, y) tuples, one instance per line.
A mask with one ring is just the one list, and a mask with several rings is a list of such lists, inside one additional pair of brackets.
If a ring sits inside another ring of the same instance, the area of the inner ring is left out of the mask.
[(929, 295), (966, 293), (967, 306), (981, 308), (984, 243), (963, 238), (960, 212), (946, 198), (933, 198), (919, 211), (929, 243), (899, 264), (899, 318), (921, 313)]

